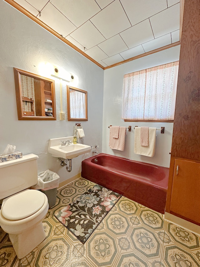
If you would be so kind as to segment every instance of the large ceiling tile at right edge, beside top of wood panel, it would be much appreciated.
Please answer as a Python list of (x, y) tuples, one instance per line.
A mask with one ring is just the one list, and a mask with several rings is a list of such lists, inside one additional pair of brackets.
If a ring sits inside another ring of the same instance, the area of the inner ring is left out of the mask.
[(176, 4), (150, 18), (155, 38), (179, 29), (180, 4)]

